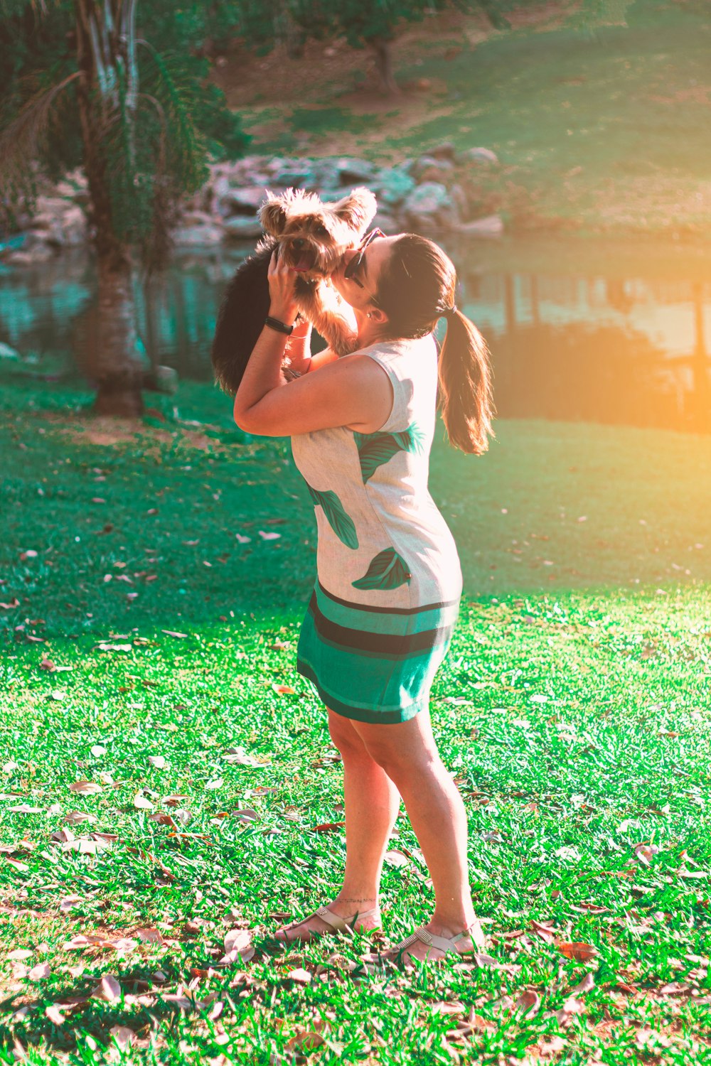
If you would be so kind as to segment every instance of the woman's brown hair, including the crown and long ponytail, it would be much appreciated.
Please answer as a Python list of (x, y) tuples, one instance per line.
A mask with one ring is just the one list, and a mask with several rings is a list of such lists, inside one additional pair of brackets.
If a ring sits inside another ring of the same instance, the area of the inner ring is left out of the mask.
[(454, 306), (456, 271), (442, 249), (417, 233), (403, 233), (383, 264), (376, 305), (388, 316), (389, 338), (424, 337), (447, 318), (439, 355), (437, 406), (450, 443), (481, 454), (494, 436), (491, 367), (486, 341)]

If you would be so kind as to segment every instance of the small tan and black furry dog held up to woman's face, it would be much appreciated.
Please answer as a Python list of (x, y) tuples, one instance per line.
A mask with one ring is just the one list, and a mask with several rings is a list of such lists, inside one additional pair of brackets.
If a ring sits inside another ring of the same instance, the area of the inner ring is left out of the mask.
[(356, 350), (356, 334), (339, 313), (341, 298), (328, 278), (340, 265), (343, 253), (357, 246), (376, 209), (368, 189), (354, 189), (335, 204), (323, 204), (312, 193), (290, 189), (262, 204), (259, 219), (265, 236), (229, 282), (212, 341), (212, 366), (225, 392), (235, 395), (240, 387), (269, 314), (266, 272), (274, 248), (298, 271), (294, 292), (301, 313), (338, 355)]

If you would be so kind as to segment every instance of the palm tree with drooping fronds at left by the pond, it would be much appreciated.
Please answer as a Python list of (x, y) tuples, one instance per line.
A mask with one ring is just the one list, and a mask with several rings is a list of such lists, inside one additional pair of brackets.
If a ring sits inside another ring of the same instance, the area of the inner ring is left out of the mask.
[[(177, 205), (205, 181), (211, 147), (194, 117), (205, 117), (206, 94), (191, 56), (161, 55), (136, 32), (136, 9), (138, 0), (0, 0), (0, 17), (16, 26), (51, 15), (66, 28), (54, 64), (63, 76), (31, 93), (20, 80), (14, 113), (0, 127), (0, 194), (5, 204), (32, 198), (28, 162), (51, 169), (59, 112), (80, 145), (95, 233), (98, 306), (86, 362), (96, 410), (129, 416), (142, 410), (145, 373), (136, 270), (150, 274), (165, 262)], [(214, 114), (209, 118), (214, 125)], [(245, 141), (237, 138), (240, 147)]]

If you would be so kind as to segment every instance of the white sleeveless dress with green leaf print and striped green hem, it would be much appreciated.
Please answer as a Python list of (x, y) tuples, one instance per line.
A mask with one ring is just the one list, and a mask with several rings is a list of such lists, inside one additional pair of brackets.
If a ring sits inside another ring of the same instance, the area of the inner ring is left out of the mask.
[(376, 433), (291, 438), (318, 526), (296, 669), (344, 717), (405, 722), (427, 706), (462, 595), (456, 545), (427, 489), (437, 349), (427, 334), (354, 354), (387, 372), (392, 409)]

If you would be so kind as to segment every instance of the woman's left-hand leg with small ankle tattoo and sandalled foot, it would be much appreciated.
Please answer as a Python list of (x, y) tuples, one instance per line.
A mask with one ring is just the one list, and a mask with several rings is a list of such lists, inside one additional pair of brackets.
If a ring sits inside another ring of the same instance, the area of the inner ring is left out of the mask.
[[(398, 817), (400, 795), (368, 754), (350, 718), (329, 710), (328, 729), (343, 756), (345, 871), (338, 895), (327, 906), (341, 918), (352, 918), (357, 910), (370, 910), (377, 903), (383, 856)], [(363, 922), (368, 928), (376, 924), (375, 919)], [(311, 930), (323, 933), (326, 928), (325, 922), (313, 916), (290, 925), (288, 939), (308, 939)], [(275, 934), (278, 939), (281, 932)]]

